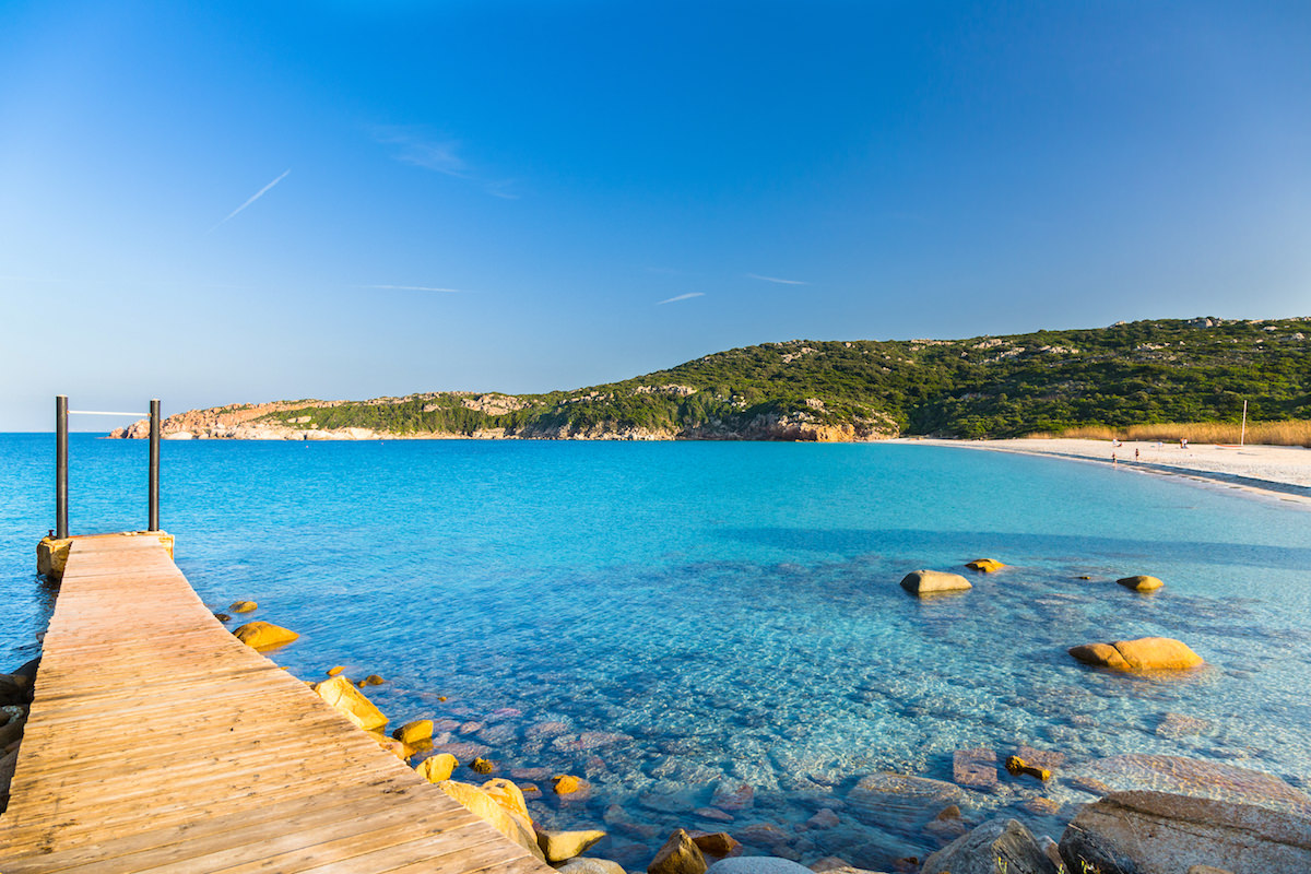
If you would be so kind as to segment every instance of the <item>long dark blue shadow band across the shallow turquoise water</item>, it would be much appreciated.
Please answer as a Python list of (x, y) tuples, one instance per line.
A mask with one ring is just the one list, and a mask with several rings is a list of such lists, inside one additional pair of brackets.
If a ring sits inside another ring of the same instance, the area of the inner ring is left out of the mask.
[(949, 553), (960, 562), (979, 556), (1011, 561), (1096, 562), (1100, 558), (1148, 556), (1197, 565), (1303, 570), (1311, 563), (1308, 546), (1277, 546), (1206, 541), (1156, 541), (1078, 535), (1034, 535), (996, 531), (919, 531), (912, 528), (825, 531), (818, 528), (722, 528), (726, 539), (788, 550), (838, 553)]

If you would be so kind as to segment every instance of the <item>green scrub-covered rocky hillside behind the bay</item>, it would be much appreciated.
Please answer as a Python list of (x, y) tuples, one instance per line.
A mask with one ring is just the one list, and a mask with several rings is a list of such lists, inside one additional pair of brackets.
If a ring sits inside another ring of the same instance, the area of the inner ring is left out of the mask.
[[(1311, 320), (1160, 320), (953, 341), (791, 341), (547, 394), (439, 392), (281, 410), (290, 427), (783, 438), (788, 427), (1019, 436), (1311, 418)], [(517, 408), (517, 409), (510, 409)]]

